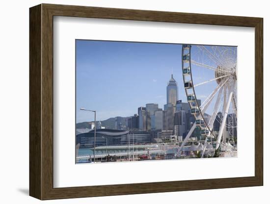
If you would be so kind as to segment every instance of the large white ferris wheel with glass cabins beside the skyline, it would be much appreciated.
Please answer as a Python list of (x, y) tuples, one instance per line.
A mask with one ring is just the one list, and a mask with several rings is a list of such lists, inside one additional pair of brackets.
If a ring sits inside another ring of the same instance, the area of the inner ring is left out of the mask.
[(236, 150), (236, 66), (236, 47), (182, 46), (184, 88), (195, 122), (190, 125), (177, 155), (181, 153), (196, 128), (204, 141), (202, 157), (205, 153), (213, 155), (218, 148), (223, 152)]

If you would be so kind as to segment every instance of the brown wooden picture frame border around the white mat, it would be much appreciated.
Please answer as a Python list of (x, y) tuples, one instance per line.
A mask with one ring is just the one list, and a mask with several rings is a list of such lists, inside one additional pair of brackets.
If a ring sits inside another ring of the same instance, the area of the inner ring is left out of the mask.
[[(29, 194), (40, 200), (263, 185), (263, 19), (193, 13), (40, 4), (30, 8)], [(53, 17), (246, 26), (255, 28), (255, 176), (54, 188)]]

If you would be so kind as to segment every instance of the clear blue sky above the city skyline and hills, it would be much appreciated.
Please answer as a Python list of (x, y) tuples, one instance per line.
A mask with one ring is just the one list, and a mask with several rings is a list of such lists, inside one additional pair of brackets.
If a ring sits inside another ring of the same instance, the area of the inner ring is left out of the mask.
[[(178, 98), (186, 102), (181, 54), (180, 44), (76, 40), (76, 122), (94, 120), (94, 114), (81, 107), (97, 110), (97, 120), (131, 116), (146, 103), (163, 108), (172, 72)], [(193, 75), (194, 81), (205, 78), (213, 78), (213, 73), (200, 69)], [(213, 91), (216, 84), (206, 86)], [(197, 98), (203, 101), (208, 93), (201, 91)]]

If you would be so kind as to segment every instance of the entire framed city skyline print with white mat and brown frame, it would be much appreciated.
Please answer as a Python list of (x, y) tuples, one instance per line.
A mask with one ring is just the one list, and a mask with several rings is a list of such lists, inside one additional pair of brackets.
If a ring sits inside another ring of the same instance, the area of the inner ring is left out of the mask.
[(262, 18), (30, 8), (30, 196), (263, 185), (262, 124)]

